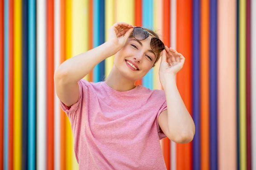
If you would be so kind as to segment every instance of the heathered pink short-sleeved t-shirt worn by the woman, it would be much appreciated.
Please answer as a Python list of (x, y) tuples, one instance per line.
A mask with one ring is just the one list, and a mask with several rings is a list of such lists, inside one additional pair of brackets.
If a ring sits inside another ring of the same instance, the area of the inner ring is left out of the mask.
[(68, 109), (80, 170), (166, 170), (157, 122), (167, 109), (164, 91), (141, 85), (116, 91), (105, 82), (79, 81), (79, 100)]

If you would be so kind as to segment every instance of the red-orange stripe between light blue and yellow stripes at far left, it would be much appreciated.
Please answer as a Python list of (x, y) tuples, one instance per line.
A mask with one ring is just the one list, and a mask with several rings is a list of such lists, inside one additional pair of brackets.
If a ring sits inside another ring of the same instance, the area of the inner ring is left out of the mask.
[(13, 0), (9, 0), (9, 158), (8, 167), (13, 169)]

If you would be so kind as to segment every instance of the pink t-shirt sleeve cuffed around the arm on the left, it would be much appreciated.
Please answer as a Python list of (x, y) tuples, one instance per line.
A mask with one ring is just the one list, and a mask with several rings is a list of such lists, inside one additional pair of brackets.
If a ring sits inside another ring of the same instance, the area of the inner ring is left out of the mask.
[(76, 112), (77, 109), (81, 106), (81, 101), (82, 101), (82, 97), (84, 95), (84, 92), (87, 90), (87, 82), (86, 80), (84, 79), (81, 79), (79, 82), (78, 82), (78, 85), (79, 85), (79, 98), (77, 100), (76, 103), (74, 103), (71, 107), (67, 107), (63, 102), (60, 101), (61, 103), (61, 109), (66, 112), (66, 113), (72, 113), (72, 112)]

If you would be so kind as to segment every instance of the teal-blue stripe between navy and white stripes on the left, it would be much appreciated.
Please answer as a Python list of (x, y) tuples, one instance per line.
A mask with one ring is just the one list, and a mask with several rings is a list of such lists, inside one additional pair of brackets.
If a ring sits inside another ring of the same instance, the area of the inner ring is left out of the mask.
[(29, 0), (29, 59), (28, 59), (28, 66), (29, 66), (29, 85), (28, 85), (28, 169), (35, 170), (35, 0)]

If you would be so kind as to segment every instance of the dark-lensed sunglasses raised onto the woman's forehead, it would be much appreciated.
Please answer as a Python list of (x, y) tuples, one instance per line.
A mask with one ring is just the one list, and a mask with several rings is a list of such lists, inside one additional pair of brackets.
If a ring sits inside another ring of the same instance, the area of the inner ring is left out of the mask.
[(163, 42), (159, 38), (152, 35), (150, 32), (146, 31), (144, 28), (134, 27), (132, 35), (137, 40), (145, 40), (150, 35), (152, 37), (150, 40), (150, 47), (156, 53), (160, 53), (165, 49)]

